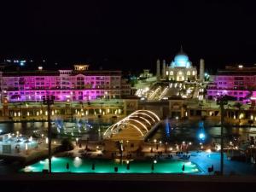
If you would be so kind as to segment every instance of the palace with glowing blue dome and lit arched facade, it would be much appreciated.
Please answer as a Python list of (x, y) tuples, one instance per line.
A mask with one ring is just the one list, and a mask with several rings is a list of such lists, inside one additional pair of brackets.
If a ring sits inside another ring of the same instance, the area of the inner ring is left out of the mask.
[(166, 65), (166, 61), (163, 61), (161, 77), (160, 61), (157, 61), (157, 78), (173, 81), (195, 81), (197, 79), (197, 70), (189, 61), (189, 56), (181, 48), (170, 65)]

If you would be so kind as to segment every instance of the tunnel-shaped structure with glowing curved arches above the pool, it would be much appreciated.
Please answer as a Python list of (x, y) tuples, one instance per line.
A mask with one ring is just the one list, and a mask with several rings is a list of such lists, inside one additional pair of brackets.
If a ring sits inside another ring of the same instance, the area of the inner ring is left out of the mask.
[(119, 122), (108, 127), (103, 133), (104, 139), (141, 140), (147, 135), (160, 118), (149, 110), (137, 110)]

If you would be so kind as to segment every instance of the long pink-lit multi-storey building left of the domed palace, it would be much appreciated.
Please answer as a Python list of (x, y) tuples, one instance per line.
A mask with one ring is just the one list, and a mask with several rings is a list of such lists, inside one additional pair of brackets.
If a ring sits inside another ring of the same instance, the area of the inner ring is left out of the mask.
[(56, 102), (118, 99), (130, 95), (131, 86), (122, 85), (121, 71), (89, 71), (88, 65), (74, 70), (0, 72), (2, 98), (9, 102), (40, 102), (43, 96), (55, 96)]

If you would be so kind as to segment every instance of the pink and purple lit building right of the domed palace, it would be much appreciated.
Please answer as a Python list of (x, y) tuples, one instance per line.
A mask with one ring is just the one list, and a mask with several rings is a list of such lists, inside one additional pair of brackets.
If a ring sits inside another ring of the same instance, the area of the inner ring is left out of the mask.
[(256, 96), (256, 67), (225, 67), (219, 70), (213, 84), (207, 85), (207, 98), (234, 96), (237, 102), (250, 102)]

